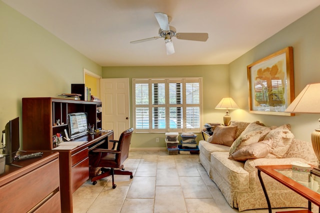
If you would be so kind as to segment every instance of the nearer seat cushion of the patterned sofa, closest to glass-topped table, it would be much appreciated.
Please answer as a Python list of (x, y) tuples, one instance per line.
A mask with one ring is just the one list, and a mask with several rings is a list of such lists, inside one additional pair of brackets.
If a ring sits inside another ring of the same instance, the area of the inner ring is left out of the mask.
[(243, 168), (244, 162), (228, 159), (228, 152), (212, 152), (211, 166), (232, 190), (245, 190), (249, 187), (249, 173)]

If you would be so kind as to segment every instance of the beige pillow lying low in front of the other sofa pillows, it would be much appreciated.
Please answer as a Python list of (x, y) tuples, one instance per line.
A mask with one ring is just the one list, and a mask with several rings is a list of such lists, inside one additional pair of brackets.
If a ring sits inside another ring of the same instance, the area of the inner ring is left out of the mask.
[(271, 149), (272, 140), (262, 140), (240, 148), (229, 156), (229, 159), (245, 161), (265, 157)]

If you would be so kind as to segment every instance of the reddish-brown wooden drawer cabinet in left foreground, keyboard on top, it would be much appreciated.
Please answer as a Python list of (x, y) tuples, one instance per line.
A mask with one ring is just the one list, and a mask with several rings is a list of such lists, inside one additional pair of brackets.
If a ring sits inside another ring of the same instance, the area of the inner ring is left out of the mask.
[(58, 156), (43, 151), (41, 157), (14, 161), (22, 167), (5, 165), (0, 175), (0, 211), (61, 212)]

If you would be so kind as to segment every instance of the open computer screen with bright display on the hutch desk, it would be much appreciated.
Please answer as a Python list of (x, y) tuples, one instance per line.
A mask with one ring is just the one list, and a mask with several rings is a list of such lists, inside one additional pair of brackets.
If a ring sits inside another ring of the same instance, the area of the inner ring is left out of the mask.
[(87, 113), (77, 112), (68, 114), (68, 128), (70, 139), (87, 134), (89, 132)]

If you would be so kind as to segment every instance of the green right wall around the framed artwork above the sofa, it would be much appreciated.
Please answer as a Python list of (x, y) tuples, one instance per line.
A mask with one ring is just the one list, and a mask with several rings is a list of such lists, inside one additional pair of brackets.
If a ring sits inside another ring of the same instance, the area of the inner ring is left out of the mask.
[[(229, 91), (243, 110), (235, 110), (232, 118), (260, 120), (266, 125), (289, 123), (295, 138), (310, 141), (310, 134), (319, 126), (319, 114), (295, 116), (261, 115), (248, 112), (246, 66), (286, 46), (293, 47), (295, 96), (308, 83), (320, 82), (320, 7), (288, 25), (229, 64)], [(318, 94), (320, 95), (320, 91)]]

